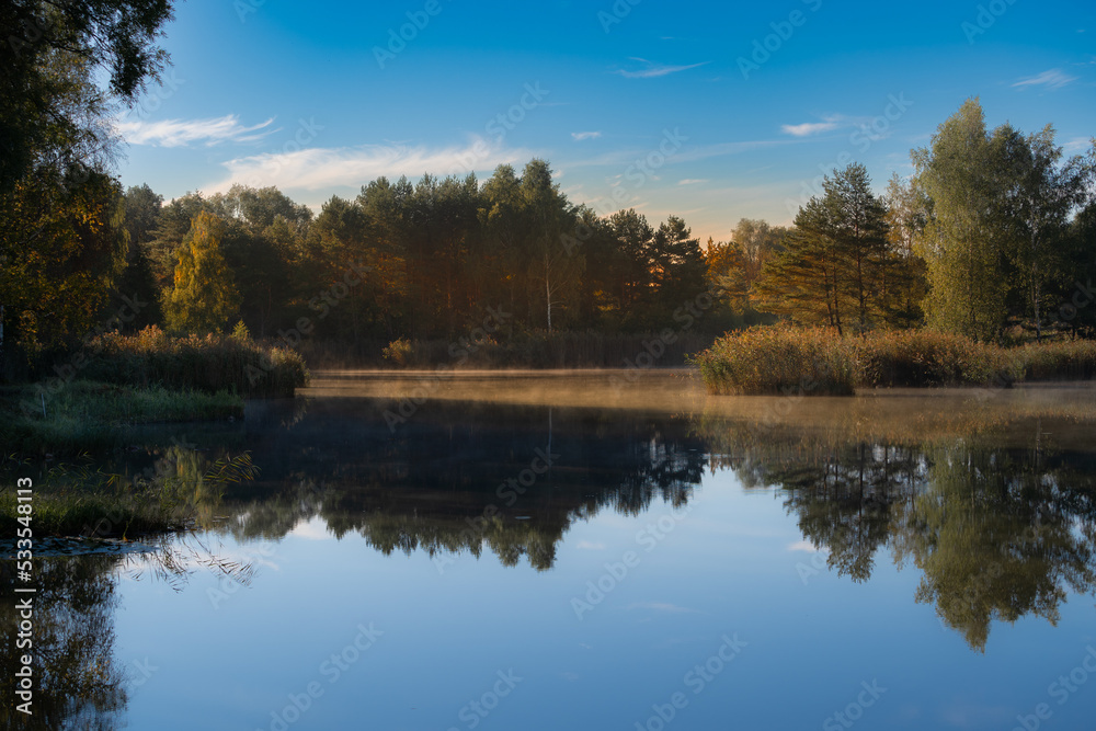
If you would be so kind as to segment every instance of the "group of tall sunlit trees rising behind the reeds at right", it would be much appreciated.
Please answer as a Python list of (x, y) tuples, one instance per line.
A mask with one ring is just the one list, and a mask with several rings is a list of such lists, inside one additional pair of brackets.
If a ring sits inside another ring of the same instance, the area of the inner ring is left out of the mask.
[(1066, 158), (1048, 125), (992, 132), (975, 99), (871, 191), (853, 163), (824, 178), (792, 228), (739, 237), (723, 279), (744, 306), (840, 333), (928, 325), (982, 341), (1092, 335), (1096, 146)]

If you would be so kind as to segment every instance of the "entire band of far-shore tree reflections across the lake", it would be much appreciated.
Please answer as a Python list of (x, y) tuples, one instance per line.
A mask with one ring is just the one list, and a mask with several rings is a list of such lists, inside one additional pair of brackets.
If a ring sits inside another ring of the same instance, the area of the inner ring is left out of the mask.
[[(195, 488), (193, 502), (203, 525), (242, 540), (319, 518), (386, 555), (487, 552), (544, 571), (575, 522), (682, 506), (707, 466), (732, 469), (747, 490), (778, 489), (838, 575), (867, 581), (887, 549), (915, 567), (915, 598), (975, 649), (994, 620), (1053, 623), (1070, 592), (1093, 591), (1096, 464), (1074, 416), (948, 401), (926, 420), (879, 402), (892, 411), (865, 400), (767, 425), (436, 402), (395, 432), (376, 399), (320, 400), (295, 419), (265, 406), (261, 443), (249, 442), (261, 479)], [(551, 465), (534, 469), (538, 454)], [(221, 514), (230, 519), (214, 522)]]

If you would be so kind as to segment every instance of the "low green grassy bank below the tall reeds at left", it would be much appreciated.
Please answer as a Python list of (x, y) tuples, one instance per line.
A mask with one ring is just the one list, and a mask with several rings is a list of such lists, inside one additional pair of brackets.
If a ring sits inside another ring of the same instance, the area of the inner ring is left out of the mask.
[(228, 391), (172, 391), (76, 380), (54, 393), (34, 386), (0, 390), (0, 441), (7, 454), (78, 454), (122, 446), (140, 424), (243, 416)]

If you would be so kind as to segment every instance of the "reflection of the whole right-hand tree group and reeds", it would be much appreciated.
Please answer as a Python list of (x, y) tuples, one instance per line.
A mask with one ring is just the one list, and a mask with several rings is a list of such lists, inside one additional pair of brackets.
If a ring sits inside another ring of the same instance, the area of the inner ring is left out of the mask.
[(838, 575), (866, 581), (890, 544), (895, 563), (923, 572), (916, 601), (983, 650), (992, 621), (1054, 624), (1069, 592), (1096, 587), (1096, 470), (1089, 452), (1055, 450), (1039, 422), (973, 437), (961, 426), (924, 443), (719, 420), (699, 429), (713, 469), (785, 492)]

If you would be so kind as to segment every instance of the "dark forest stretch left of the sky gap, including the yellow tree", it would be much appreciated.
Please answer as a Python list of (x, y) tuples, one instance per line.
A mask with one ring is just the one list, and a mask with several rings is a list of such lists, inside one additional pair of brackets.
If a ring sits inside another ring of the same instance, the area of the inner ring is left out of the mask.
[(322, 315), (327, 339), (427, 339), (494, 307), (527, 329), (637, 332), (667, 325), (708, 290), (682, 218), (601, 218), (569, 202), (538, 159), (520, 174), (500, 165), (482, 184), (379, 178), (315, 217), (274, 187), (240, 185), (168, 204), (132, 187), (125, 209), (132, 284), (147, 299), (160, 293), (150, 317), (179, 331), (242, 320), (270, 336)]

